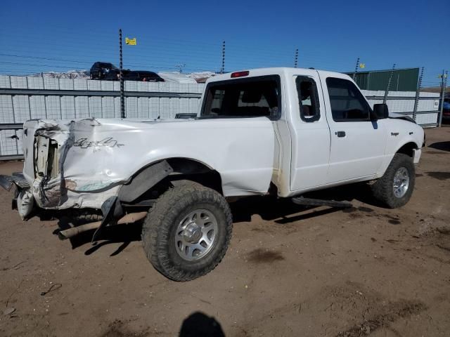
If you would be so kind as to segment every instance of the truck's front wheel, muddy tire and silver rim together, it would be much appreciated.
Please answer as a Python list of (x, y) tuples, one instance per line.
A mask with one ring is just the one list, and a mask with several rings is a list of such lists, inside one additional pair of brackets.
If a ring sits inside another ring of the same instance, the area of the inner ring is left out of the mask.
[(397, 209), (411, 199), (415, 183), (413, 159), (406, 154), (397, 153), (384, 176), (372, 185), (373, 196), (389, 208)]

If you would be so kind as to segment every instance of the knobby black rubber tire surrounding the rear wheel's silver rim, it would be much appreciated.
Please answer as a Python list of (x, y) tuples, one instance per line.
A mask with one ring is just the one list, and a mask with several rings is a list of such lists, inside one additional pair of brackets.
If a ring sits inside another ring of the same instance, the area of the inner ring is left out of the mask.
[[(195, 209), (206, 209), (217, 219), (217, 239), (199, 260), (188, 261), (176, 251), (175, 232), (180, 221)], [(225, 198), (215, 190), (181, 180), (152, 206), (142, 228), (143, 249), (150, 263), (165, 277), (186, 282), (203, 276), (224, 257), (231, 239), (233, 220)]]

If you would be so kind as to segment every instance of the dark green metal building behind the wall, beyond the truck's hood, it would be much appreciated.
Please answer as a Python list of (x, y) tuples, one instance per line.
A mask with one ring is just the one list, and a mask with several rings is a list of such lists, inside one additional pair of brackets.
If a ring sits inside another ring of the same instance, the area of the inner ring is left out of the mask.
[[(356, 72), (356, 84), (363, 90), (386, 90), (392, 70), (374, 70)], [(353, 77), (354, 72), (345, 74)], [(419, 68), (394, 70), (389, 91), (416, 91), (419, 79)]]

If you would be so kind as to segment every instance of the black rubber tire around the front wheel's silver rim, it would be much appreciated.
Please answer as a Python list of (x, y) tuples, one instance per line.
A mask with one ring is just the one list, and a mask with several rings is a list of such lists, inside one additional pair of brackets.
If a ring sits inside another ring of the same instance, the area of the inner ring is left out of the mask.
[[(409, 174), (409, 187), (402, 197), (394, 195), (394, 175), (401, 167), (404, 167)], [(372, 186), (373, 197), (383, 203), (390, 209), (397, 209), (404, 206), (413, 194), (414, 185), (416, 183), (416, 169), (414, 168), (413, 159), (406, 154), (396, 153), (391, 163), (387, 166), (387, 170), (383, 177), (378, 179)]]

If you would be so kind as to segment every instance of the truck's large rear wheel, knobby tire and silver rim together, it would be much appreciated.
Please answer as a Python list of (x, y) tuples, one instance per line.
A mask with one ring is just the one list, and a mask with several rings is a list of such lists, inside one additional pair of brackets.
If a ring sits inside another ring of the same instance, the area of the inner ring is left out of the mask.
[(143, 249), (162, 275), (185, 282), (219, 264), (229, 246), (231, 228), (225, 198), (185, 181), (162, 194), (148, 212), (142, 229)]

